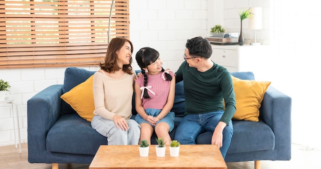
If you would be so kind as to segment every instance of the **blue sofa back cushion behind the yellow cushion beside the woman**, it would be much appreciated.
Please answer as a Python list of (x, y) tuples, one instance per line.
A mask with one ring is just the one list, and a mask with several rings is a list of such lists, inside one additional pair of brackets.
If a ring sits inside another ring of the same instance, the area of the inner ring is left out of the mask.
[[(89, 71), (83, 68), (67, 67), (63, 85), (63, 94), (71, 90), (78, 84), (85, 82), (95, 71)], [(62, 102), (62, 114), (76, 113), (76, 111), (65, 101)]]

